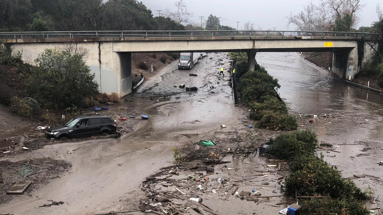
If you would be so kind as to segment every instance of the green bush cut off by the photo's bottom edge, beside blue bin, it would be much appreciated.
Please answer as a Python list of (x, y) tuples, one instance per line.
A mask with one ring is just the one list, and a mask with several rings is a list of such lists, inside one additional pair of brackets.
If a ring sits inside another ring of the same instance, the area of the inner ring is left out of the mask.
[(298, 215), (370, 215), (370, 211), (359, 202), (347, 199), (314, 198), (301, 202)]

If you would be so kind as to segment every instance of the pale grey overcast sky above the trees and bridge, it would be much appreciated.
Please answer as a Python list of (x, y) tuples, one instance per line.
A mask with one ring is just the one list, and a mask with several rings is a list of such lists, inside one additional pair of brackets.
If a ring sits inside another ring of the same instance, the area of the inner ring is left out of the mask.
[[(141, 0), (153, 15), (157, 16), (156, 10), (175, 11), (174, 2), (177, 0)], [(286, 16), (290, 12), (299, 13), (303, 10), (308, 0), (183, 0), (188, 10), (193, 13), (193, 22), (200, 23), (198, 16), (205, 16), (205, 19), (212, 13), (226, 19), (221, 21), (221, 25), (228, 25), (237, 28), (239, 21), (239, 29), (243, 29), (243, 24), (247, 21), (254, 23), (254, 28), (259, 26), (263, 30), (295, 30), (295, 26), (287, 26)], [(376, 5), (380, 2), (383, 7), (382, 0), (362, 0), (367, 3), (366, 7), (360, 13), (362, 20), (357, 24), (359, 26), (370, 26), (373, 21), (377, 20)], [(318, 3), (319, 0), (312, 0)]]

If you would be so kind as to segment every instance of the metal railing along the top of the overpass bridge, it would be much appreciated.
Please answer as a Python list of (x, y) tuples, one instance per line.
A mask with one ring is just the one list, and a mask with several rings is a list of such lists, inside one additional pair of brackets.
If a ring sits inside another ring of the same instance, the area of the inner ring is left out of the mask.
[(49, 39), (97, 37), (200, 37), (200, 36), (332, 36), (364, 37), (374, 34), (332, 31), (46, 31), (0, 32), (0, 39)]

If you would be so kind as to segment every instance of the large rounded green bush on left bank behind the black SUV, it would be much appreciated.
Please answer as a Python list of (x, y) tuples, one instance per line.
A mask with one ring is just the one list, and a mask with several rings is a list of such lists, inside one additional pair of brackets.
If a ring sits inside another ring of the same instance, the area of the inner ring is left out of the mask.
[(95, 96), (98, 84), (78, 54), (46, 49), (35, 60), (27, 92), (47, 109), (65, 109)]

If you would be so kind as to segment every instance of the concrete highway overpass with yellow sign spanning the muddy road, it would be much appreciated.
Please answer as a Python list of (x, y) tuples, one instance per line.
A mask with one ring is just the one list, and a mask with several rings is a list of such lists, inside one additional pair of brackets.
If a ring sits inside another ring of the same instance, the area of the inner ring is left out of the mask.
[(133, 52), (247, 52), (249, 70), (256, 52), (333, 52), (332, 72), (353, 79), (371, 55), (372, 34), (318, 31), (65, 31), (0, 32), (0, 44), (23, 60), (68, 44), (88, 50), (86, 59), (99, 91), (131, 93)]

